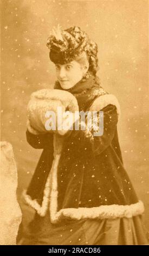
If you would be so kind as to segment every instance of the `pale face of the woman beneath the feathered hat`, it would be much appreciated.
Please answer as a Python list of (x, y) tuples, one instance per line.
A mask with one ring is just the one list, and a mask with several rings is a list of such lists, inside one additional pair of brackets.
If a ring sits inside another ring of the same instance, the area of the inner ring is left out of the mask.
[(56, 77), (64, 90), (70, 89), (79, 82), (85, 74), (85, 69), (76, 60), (67, 64), (55, 64)]

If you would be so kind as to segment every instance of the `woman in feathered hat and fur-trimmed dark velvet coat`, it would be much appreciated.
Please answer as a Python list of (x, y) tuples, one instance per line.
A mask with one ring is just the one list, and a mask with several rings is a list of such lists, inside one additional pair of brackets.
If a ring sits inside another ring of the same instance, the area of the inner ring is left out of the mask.
[[(25, 201), (34, 220), (20, 227), (18, 245), (142, 245), (146, 243), (136, 196), (124, 168), (116, 124), (120, 107), (96, 76), (98, 47), (79, 27), (53, 29), (47, 46), (55, 64), (55, 89), (77, 99), (79, 111), (103, 111), (87, 130), (36, 131), (28, 123), (27, 141), (43, 148)], [(74, 120), (72, 125), (74, 126)]]

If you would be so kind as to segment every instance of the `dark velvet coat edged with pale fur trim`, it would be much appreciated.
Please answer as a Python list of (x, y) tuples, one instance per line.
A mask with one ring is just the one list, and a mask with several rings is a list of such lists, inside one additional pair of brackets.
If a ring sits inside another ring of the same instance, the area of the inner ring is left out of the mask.
[(74, 95), (79, 110), (103, 111), (102, 136), (93, 135), (94, 127), (65, 136), (26, 132), (31, 147), (43, 151), (24, 198), (40, 216), (49, 211), (51, 223), (63, 218), (130, 218), (144, 211), (122, 161), (119, 102), (91, 82), (90, 89)]

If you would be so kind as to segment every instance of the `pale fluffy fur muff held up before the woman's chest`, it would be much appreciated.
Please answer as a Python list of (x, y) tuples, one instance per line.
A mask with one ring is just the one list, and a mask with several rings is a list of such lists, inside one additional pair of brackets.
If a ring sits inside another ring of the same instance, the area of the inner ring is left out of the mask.
[[(75, 96), (65, 90), (42, 89), (31, 94), (31, 99), (27, 107), (29, 119), (27, 126), (29, 130), (47, 132), (45, 127), (48, 118), (46, 115), (47, 111), (53, 111), (55, 113), (55, 125), (57, 127), (57, 107), (61, 107), (62, 113), (66, 110), (73, 113), (79, 111)], [(49, 132), (53, 131), (51, 130)]]

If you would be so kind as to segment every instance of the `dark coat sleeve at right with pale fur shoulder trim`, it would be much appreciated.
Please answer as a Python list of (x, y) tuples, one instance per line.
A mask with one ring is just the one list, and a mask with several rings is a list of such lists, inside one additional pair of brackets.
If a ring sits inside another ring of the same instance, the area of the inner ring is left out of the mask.
[[(112, 100), (114, 99), (114, 100)], [(76, 138), (77, 143), (80, 143), (80, 149), (82, 152), (86, 149), (86, 152), (90, 152), (90, 148), (92, 148), (92, 152), (94, 156), (99, 155), (105, 150), (112, 142), (112, 139), (115, 135), (116, 125), (118, 123), (118, 115), (120, 114), (119, 103), (116, 100), (116, 97), (106, 95), (98, 97), (90, 106), (89, 111), (97, 112), (97, 123), (93, 125), (92, 118), (92, 126), (91, 129), (87, 129), (87, 117), (85, 119), (85, 130), (73, 131), (74, 136)], [(103, 113), (103, 132), (100, 136), (95, 136), (95, 133), (99, 130), (99, 122), (100, 116), (99, 112)], [(80, 122), (81, 125), (81, 122)]]

